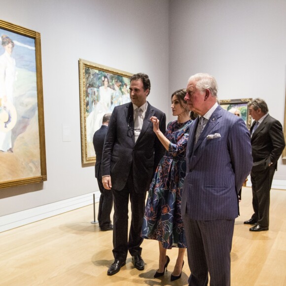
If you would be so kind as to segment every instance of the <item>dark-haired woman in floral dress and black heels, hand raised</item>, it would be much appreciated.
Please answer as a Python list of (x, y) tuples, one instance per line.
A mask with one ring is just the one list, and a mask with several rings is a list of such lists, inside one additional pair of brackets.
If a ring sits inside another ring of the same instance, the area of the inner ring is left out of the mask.
[(178, 247), (171, 281), (181, 277), (183, 256), (186, 249), (183, 220), (180, 211), (181, 191), (186, 174), (186, 146), (188, 129), (192, 120), (189, 117), (187, 103), (184, 101), (186, 91), (180, 89), (172, 94), (172, 112), (178, 120), (170, 122), (165, 135), (159, 129), (159, 120), (151, 117), (153, 130), (166, 152), (161, 159), (154, 178), (150, 184), (143, 219), (142, 237), (159, 241), (159, 269), (154, 277), (164, 275), (170, 262), (167, 249)]

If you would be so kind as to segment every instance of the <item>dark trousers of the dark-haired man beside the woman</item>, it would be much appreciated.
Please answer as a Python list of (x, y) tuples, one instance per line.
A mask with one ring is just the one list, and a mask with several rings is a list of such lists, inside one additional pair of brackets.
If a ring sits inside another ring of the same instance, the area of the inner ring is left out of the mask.
[[(112, 189), (113, 215), (113, 256), (115, 260), (125, 261), (129, 250), (132, 256), (141, 255), (143, 238), (141, 229), (145, 207), (146, 192), (136, 193), (130, 172), (126, 185), (120, 191)], [(128, 204), (131, 203), (131, 226), (128, 238)]]

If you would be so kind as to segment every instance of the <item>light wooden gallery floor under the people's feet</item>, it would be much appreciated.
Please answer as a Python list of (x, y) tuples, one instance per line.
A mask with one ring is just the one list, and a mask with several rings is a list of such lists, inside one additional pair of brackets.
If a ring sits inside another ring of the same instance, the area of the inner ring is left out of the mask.
[[(286, 191), (271, 190), (270, 230), (258, 233), (243, 224), (252, 214), (251, 189), (244, 187), (242, 196), (231, 252), (231, 285), (286, 285)], [(171, 258), (167, 275), (153, 278), (157, 241), (143, 242), (144, 271), (134, 269), (128, 255), (126, 266), (107, 276), (113, 262), (112, 231), (101, 232), (92, 220), (93, 208), (88, 206), (0, 233), (0, 285), (187, 285), (187, 256), (181, 279), (170, 282), (177, 249), (167, 253)]]

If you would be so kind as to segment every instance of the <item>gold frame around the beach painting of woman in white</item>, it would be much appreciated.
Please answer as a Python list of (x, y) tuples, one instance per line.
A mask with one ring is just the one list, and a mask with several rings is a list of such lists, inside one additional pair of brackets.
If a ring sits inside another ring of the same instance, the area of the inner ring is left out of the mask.
[[(0, 178), (0, 189), (12, 186), (38, 183), (47, 180), (46, 172), (46, 152), (45, 152), (45, 133), (44, 133), (44, 108), (43, 108), (43, 91), (42, 91), (42, 69), (41, 69), (41, 41), (38, 32), (20, 27), (0, 20), (0, 28), (15, 34), (30, 37), (35, 40), (36, 54), (36, 87), (37, 87), (37, 113), (38, 113), (38, 138), (39, 138), (39, 158), (40, 158), (40, 175), (21, 179), (5, 180)], [(17, 65), (16, 65), (17, 66)], [(1, 164), (4, 162), (2, 161)]]

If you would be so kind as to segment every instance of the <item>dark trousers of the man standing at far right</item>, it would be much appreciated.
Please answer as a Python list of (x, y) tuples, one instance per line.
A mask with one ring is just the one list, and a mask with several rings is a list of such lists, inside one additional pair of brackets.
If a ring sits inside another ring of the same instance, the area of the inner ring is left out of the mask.
[(270, 189), (275, 173), (275, 166), (271, 166), (266, 170), (258, 170), (257, 172), (253, 169), (250, 173), (254, 211), (251, 218), (257, 220), (258, 225), (269, 227)]

